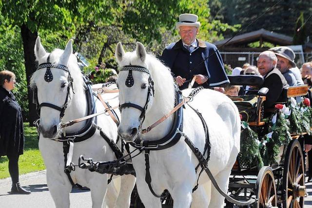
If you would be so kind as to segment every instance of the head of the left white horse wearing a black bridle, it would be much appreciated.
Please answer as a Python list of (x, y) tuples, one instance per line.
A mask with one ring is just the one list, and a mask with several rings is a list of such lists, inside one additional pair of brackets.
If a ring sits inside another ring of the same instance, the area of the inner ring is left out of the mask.
[(31, 78), (31, 87), (38, 95), (39, 132), (46, 138), (57, 135), (60, 118), (71, 102), (73, 80), (67, 66), (72, 50), (72, 40), (69, 40), (64, 51), (56, 49), (50, 54), (41, 45), (40, 38), (36, 40), (39, 66)]

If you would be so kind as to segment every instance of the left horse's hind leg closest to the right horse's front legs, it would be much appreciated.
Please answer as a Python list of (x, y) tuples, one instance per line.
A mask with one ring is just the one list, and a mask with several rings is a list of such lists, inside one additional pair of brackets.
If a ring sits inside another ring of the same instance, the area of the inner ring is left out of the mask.
[(116, 208), (129, 208), (130, 198), (136, 184), (136, 177), (133, 175), (121, 176), (120, 191), (116, 202)]

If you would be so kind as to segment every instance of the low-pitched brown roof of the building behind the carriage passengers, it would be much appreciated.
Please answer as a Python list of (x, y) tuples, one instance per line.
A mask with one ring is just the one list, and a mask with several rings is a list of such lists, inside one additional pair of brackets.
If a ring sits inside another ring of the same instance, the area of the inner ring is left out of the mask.
[[(216, 41), (214, 42), (214, 44), (216, 45), (216, 47), (221, 47), (229, 39), (230, 38), (226, 38), (220, 41)], [(281, 46), (292, 45), (292, 37), (268, 31), (262, 28), (260, 30), (235, 36), (232, 40), (226, 43), (225, 46), (247, 45), (258, 40), (270, 42), (275, 45)], [(312, 47), (312, 43), (307, 43), (306, 46)]]

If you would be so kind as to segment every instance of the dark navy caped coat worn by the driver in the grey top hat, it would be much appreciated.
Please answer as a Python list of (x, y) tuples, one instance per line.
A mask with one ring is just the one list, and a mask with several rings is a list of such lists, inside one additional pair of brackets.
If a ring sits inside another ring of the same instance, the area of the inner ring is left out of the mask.
[[(184, 48), (180, 39), (167, 46), (160, 59), (171, 69), (174, 76), (182, 76), (182, 78), (191, 81), (194, 75), (206, 75), (209, 77), (209, 83), (204, 83), (204, 87), (206, 85), (207, 87), (216, 87), (228, 84), (230, 81), (226, 76), (222, 57), (215, 45), (199, 39), (197, 39), (197, 43), (198, 48), (190, 53)], [(202, 63), (206, 57), (209, 58)], [(181, 88), (186, 88), (188, 84), (189, 82), (185, 83)]]

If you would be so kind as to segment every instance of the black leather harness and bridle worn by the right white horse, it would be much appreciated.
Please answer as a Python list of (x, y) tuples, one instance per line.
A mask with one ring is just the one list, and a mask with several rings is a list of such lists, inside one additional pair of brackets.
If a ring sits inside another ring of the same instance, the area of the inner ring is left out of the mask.
[[(150, 71), (147, 68), (141, 67), (141, 66), (128, 65), (128, 66), (122, 67), (119, 70), (119, 71), (129, 71), (128, 77), (126, 78), (126, 81), (125, 81), (125, 85), (127, 87), (132, 87), (134, 85), (134, 80), (133, 80), (133, 76), (132, 76), (133, 70), (139, 71), (139, 72), (144, 72), (144, 73), (147, 73), (149, 75), (149, 79), (148, 79), (149, 80), (149, 86), (148, 86), (148, 93), (147, 93), (145, 105), (142, 108), (141, 106), (138, 106), (137, 104), (123, 103), (120, 105), (119, 109), (121, 112), (122, 108), (132, 107), (132, 108), (136, 108), (139, 111), (141, 111), (141, 114), (139, 116), (139, 119), (140, 119), (139, 128), (140, 128), (142, 126), (142, 123), (143, 123), (144, 118), (145, 118), (145, 113), (146, 113), (146, 110), (148, 107), (150, 96), (155, 96), (154, 81), (152, 80), (151, 75), (150, 75)], [(159, 123), (164, 121), (166, 118), (168, 118), (172, 113), (175, 113), (175, 118), (174, 118), (174, 122), (173, 122), (173, 126), (171, 128), (171, 131), (165, 137), (163, 137), (159, 140), (156, 140), (156, 141), (147, 141), (147, 140), (136, 139), (133, 143), (130, 143), (131, 146), (133, 146), (137, 149), (144, 150), (145, 170), (146, 170), (145, 182), (148, 184), (148, 187), (149, 187), (150, 191), (153, 193), (153, 195), (158, 197), (158, 198), (162, 197), (163, 195), (157, 195), (155, 193), (153, 187), (152, 187), (152, 178), (151, 178), (151, 173), (150, 173), (150, 162), (149, 162), (150, 151), (158, 151), (158, 150), (164, 150), (164, 149), (170, 148), (170, 147), (174, 146), (180, 140), (182, 132), (183, 132), (183, 109), (181, 108), (181, 106), (184, 105), (185, 103), (187, 103), (188, 101), (192, 100), (193, 97), (202, 89), (203, 89), (202, 87), (194, 89), (191, 92), (191, 94), (188, 96), (188, 100), (185, 101), (182, 98), (181, 91), (178, 90), (178, 87), (175, 84), (175, 93), (176, 93), (175, 105), (176, 105), (176, 108), (173, 111), (171, 111), (169, 114), (160, 118), (155, 124), (151, 125), (150, 127), (148, 127), (145, 130), (141, 130), (142, 133), (149, 132), (149, 131), (151, 131), (152, 128), (156, 127), (156, 125), (158, 125)], [(207, 124), (206, 124), (205, 120), (203, 119), (202, 115), (197, 110), (195, 110), (192, 107), (191, 107), (191, 109), (193, 109), (195, 111), (195, 113), (200, 117), (200, 119), (203, 123), (203, 128), (204, 128), (204, 131), (206, 134), (205, 135), (206, 136), (206, 144), (205, 144), (204, 152), (206, 152), (208, 150), (207, 160), (209, 160), (210, 141), (209, 141)], [(188, 137), (185, 137), (185, 138), (188, 138)], [(189, 140), (189, 139), (188, 139), (188, 141), (191, 142), (191, 140)], [(198, 149), (197, 149), (197, 151), (198, 151)], [(196, 170), (197, 170), (198, 166), (196, 167)], [(200, 176), (200, 174), (199, 174), (199, 176)], [(193, 191), (195, 191), (197, 189), (197, 187), (198, 187), (198, 184), (193, 189)]]

